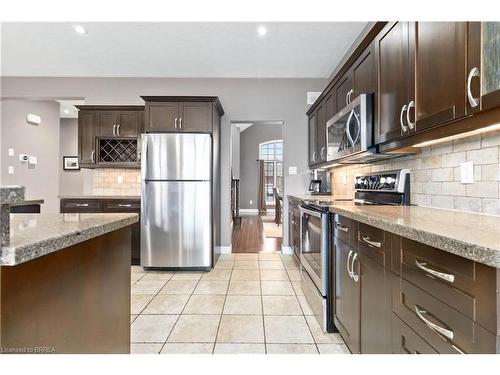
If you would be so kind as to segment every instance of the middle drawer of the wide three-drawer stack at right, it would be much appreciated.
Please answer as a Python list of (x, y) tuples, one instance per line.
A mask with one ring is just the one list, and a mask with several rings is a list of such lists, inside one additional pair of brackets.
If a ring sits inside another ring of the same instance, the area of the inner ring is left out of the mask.
[(396, 315), (439, 353), (495, 353), (495, 335), (400, 277), (392, 301)]

